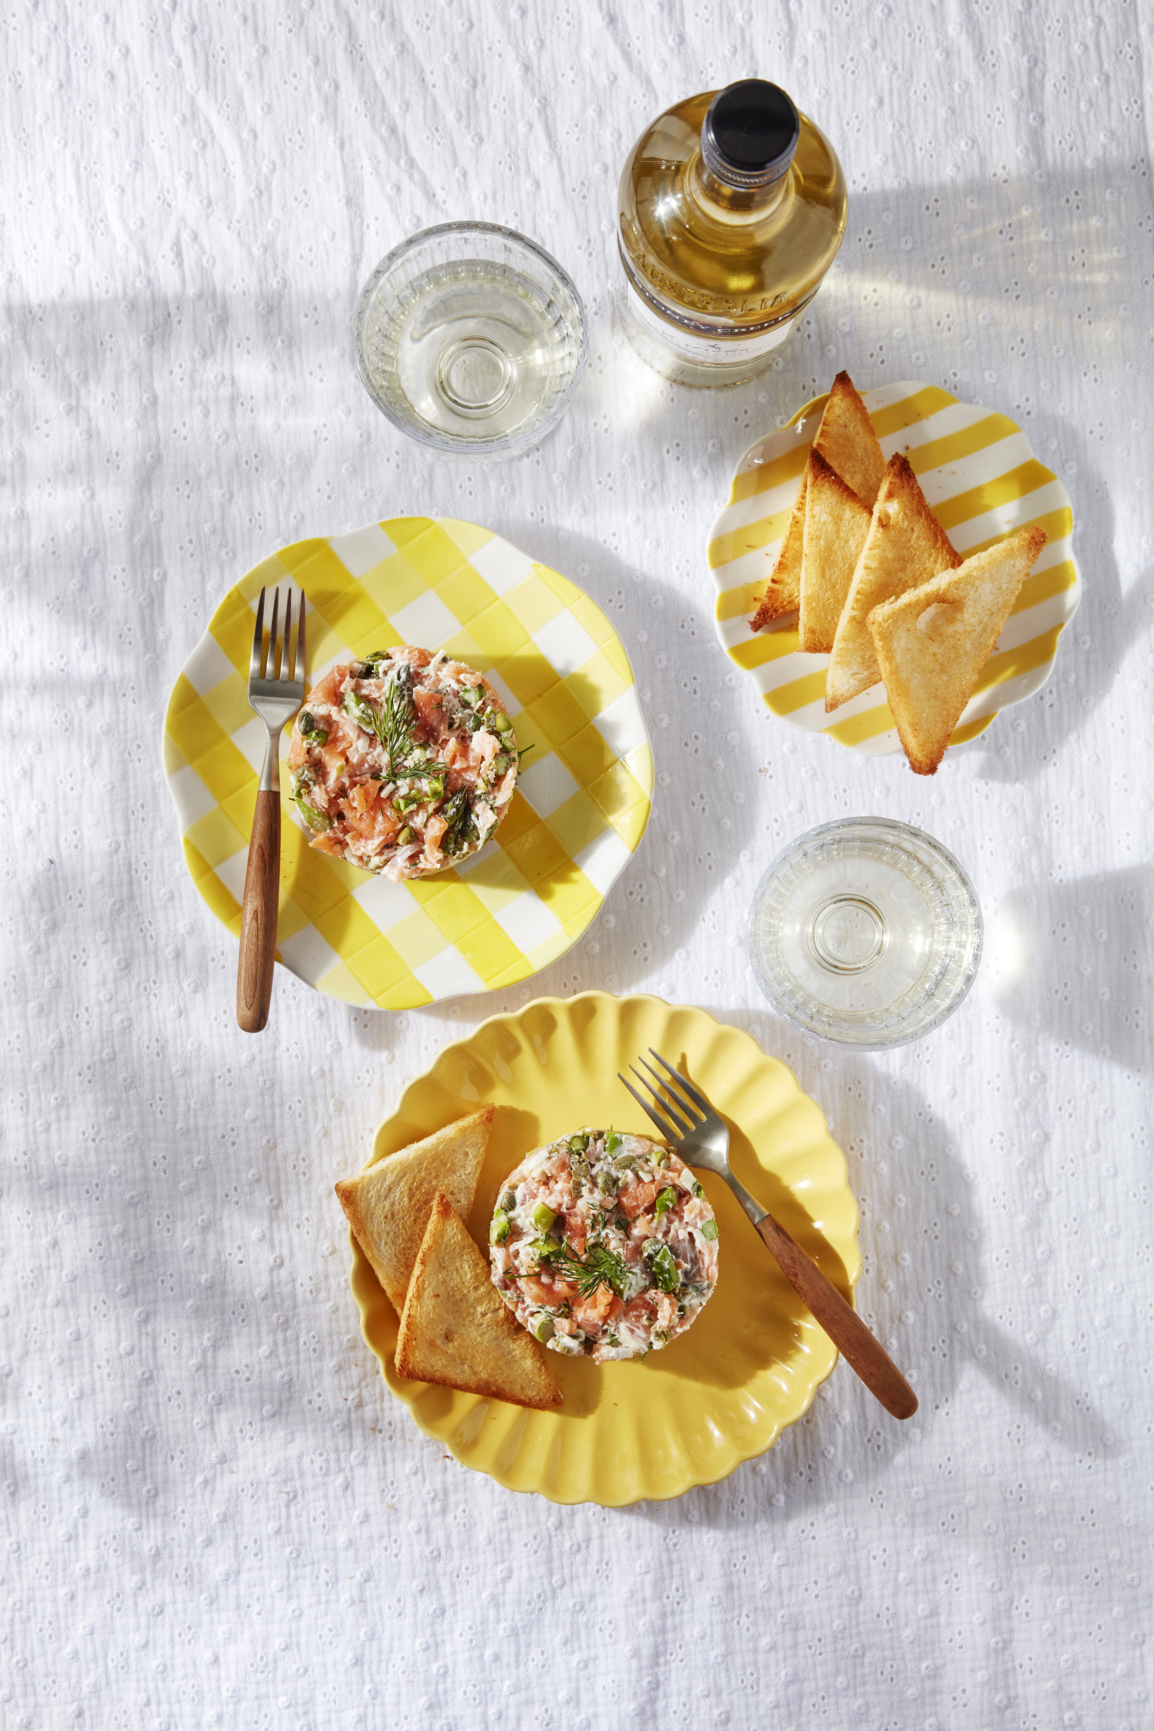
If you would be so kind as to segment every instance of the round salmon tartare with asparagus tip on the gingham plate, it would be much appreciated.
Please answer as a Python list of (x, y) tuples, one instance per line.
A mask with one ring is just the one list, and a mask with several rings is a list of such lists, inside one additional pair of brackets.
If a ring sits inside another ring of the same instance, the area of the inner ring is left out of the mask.
[(311, 848), (396, 881), (427, 878), (497, 833), (517, 741), (481, 673), (398, 644), (313, 685), (292, 724), (289, 772)]

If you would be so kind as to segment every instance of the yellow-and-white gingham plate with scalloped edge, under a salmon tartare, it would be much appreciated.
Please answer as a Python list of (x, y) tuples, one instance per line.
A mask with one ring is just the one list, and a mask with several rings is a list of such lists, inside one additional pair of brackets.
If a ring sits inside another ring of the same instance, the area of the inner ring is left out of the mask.
[(564, 576), (450, 518), (370, 523), (258, 564), (218, 606), (164, 720), (185, 860), (234, 935), (265, 748), (247, 701), (256, 597), (287, 578), (308, 601), (310, 685), (389, 644), (445, 649), (486, 675), (533, 751), (497, 840), (412, 883), (313, 852), (282, 775), (277, 959), (381, 1009), (528, 980), (576, 943), (649, 819), (652, 751), (619, 637)]

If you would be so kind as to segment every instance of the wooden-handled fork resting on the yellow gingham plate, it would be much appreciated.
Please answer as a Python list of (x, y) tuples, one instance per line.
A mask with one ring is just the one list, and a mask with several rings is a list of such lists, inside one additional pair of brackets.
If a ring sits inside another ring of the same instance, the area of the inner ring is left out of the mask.
[(244, 872), (240, 957), (237, 961), (237, 1021), (260, 1033), (268, 1021), (277, 902), (280, 891), (280, 732), (305, 703), (305, 595), (296, 597), (296, 654), (292, 653), (292, 589), (284, 602), (284, 632), (277, 632), (280, 594), (273, 590), (268, 651), (265, 651), (265, 590), (256, 604), (256, 632), (249, 661), (249, 703), (265, 724), (268, 743), (256, 788), (249, 864)]

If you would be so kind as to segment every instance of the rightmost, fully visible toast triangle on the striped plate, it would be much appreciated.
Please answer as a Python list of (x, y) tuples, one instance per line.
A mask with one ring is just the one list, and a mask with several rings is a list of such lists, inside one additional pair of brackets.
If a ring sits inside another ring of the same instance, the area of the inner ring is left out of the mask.
[(919, 775), (941, 763), (1043, 547), (1043, 528), (1019, 530), (869, 615), (898, 739)]

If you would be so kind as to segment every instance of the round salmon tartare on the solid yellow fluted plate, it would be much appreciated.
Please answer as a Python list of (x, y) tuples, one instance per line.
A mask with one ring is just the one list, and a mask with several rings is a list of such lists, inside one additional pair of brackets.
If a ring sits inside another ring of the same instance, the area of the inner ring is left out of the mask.
[(578, 1130), (526, 1155), (490, 1226), (493, 1284), (552, 1352), (595, 1364), (676, 1340), (718, 1277), (718, 1224), (645, 1136)]

